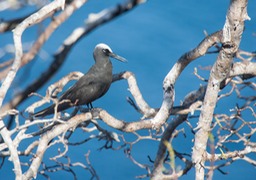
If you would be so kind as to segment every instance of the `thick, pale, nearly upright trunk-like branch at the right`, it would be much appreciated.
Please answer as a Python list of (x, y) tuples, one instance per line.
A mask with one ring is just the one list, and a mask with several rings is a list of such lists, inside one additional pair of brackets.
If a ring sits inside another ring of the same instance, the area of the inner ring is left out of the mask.
[(240, 44), (241, 35), (244, 29), (244, 21), (246, 19), (248, 19), (247, 1), (231, 1), (227, 12), (226, 23), (223, 28), (223, 45), (219, 52), (217, 61), (210, 73), (206, 95), (197, 127), (198, 132), (195, 135), (192, 158), (195, 163), (197, 180), (204, 179), (204, 153), (206, 150), (208, 135), (211, 130), (210, 125), (217, 102), (220, 83), (229, 75), (233, 57)]

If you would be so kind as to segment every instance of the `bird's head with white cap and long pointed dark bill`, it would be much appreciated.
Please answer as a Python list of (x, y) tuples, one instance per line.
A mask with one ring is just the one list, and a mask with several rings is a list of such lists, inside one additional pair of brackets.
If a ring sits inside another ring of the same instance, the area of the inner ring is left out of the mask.
[(107, 60), (109, 59), (109, 57), (115, 58), (121, 62), (127, 62), (127, 60), (115, 53), (113, 53), (113, 51), (111, 50), (111, 48), (103, 43), (98, 44), (93, 52), (93, 56), (95, 61), (97, 61), (98, 59), (100, 60), (101, 58), (107, 58)]

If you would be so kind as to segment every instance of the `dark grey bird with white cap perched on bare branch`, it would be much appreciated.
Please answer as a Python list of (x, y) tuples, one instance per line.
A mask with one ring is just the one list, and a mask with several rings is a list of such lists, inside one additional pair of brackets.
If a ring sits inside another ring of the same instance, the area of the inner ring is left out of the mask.
[[(60, 104), (58, 104), (57, 112), (81, 105), (87, 105), (89, 109), (92, 108), (92, 102), (106, 94), (112, 83), (113, 67), (110, 57), (127, 62), (125, 58), (113, 53), (111, 48), (104, 43), (96, 45), (93, 57), (95, 64), (58, 99)], [(52, 104), (33, 116), (44, 117), (54, 114), (55, 106), (56, 104)]]

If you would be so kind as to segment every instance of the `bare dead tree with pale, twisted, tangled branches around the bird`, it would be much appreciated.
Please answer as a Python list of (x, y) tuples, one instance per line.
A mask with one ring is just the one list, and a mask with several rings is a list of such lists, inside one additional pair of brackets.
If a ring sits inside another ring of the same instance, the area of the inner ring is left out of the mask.
[[(255, 53), (240, 49), (240, 41), (242, 41), (245, 29), (244, 21), (250, 19), (247, 14), (246, 0), (231, 0), (223, 28), (210, 35), (207, 34), (198, 46), (184, 53), (171, 67), (163, 80), (162, 105), (159, 108), (149, 106), (143, 98), (132, 72), (125, 71), (114, 75), (113, 83), (120, 80), (127, 81), (132, 96), (127, 100), (141, 114), (139, 120), (128, 122), (125, 120), (126, 117), (120, 120), (115, 118), (114, 114), (100, 108), (90, 111), (76, 108), (72, 114), (55, 113), (52, 118), (48, 119), (33, 119), (31, 116), (25, 116), (24, 121), (24, 117), (19, 115), (20, 110), (16, 107), (27, 99), (28, 95), (38, 95), (35, 92), (58, 70), (65, 61), (67, 54), (80, 39), (96, 27), (144, 2), (140, 0), (125, 1), (114, 8), (106, 8), (98, 14), (89, 16), (84, 26), (74, 29), (64, 40), (55, 54), (52, 64), (43, 73), (43, 76), (3, 105), (3, 100), (17, 71), (33, 61), (51, 34), (86, 2), (86, 0), (66, 2), (55, 0), (25, 17), (1, 22), (0, 32), (13, 31), (15, 58), (1, 64), (0, 78), (3, 83), (0, 88), (0, 134), (2, 138), (0, 156), (3, 162), (5, 158), (10, 158), (16, 179), (31, 179), (37, 177), (38, 174), (48, 177), (49, 172), (60, 170), (70, 172), (76, 178), (73, 170), (76, 166), (84, 168), (91, 173), (92, 177), (98, 179), (97, 172), (90, 163), (90, 151), (85, 154), (83, 163), (73, 162), (72, 158), (67, 155), (71, 146), (79, 146), (91, 139), (104, 140), (105, 144), (102, 149), (115, 150), (128, 146), (125, 149), (127, 157), (134, 164), (145, 169), (145, 175), (139, 176), (141, 178), (177, 179), (190, 171), (191, 168), (195, 168), (196, 179), (204, 179), (205, 177), (212, 179), (215, 170), (225, 174), (221, 168), (236, 160), (244, 160), (249, 164), (256, 165), (256, 160), (250, 156), (256, 152), (256, 142), (252, 138), (256, 132), (256, 84), (253, 81), (256, 75)], [(24, 30), (49, 17), (52, 18), (44, 32), (35, 40), (30, 50), (24, 53), (21, 40)], [(215, 48), (215, 51), (211, 52), (210, 48)], [(174, 106), (175, 83), (180, 74), (191, 62), (210, 53), (217, 53), (218, 57), (210, 68), (209, 77), (204, 78), (195, 70), (195, 75), (205, 85), (201, 85), (198, 89), (187, 94), (179, 106)], [(26, 112), (31, 114), (35, 108), (45, 103), (56, 102), (56, 96), (62, 92), (63, 87), (69, 81), (77, 80), (82, 75), (81, 72), (72, 72), (52, 84), (48, 87), (46, 95), (38, 95), (41, 100), (27, 107)], [(223, 92), (225, 88), (230, 89), (230, 91), (228, 93)], [(254, 94), (244, 94), (243, 90), (245, 89), (253, 91)], [(229, 114), (217, 112), (217, 104), (234, 94), (240, 103), (237, 103)], [(81, 112), (78, 113), (78, 110)], [(12, 121), (9, 121), (10, 123), (5, 120), (9, 116), (14, 117)], [(198, 120), (196, 126), (191, 123), (195, 119)], [(99, 122), (103, 122), (117, 131), (103, 128)], [(13, 126), (8, 126), (8, 124)], [(192, 137), (194, 139), (194, 145), (191, 147), (192, 152), (178, 152), (172, 145), (179, 134), (188, 133), (178, 128), (181, 124), (189, 126), (194, 136)], [(148, 130), (148, 135), (141, 135), (139, 130), (142, 129)], [(79, 142), (72, 142), (70, 139), (78, 130), (88, 134), (96, 131), (98, 135), (89, 136)], [(135, 135), (136, 139), (132, 142), (128, 141), (123, 132)], [(138, 162), (131, 154), (133, 145), (145, 139), (159, 142), (156, 157), (155, 159), (150, 157), (148, 164)], [(24, 141), (30, 143), (24, 150), (21, 150), (19, 145)], [(230, 144), (241, 142), (242, 148), (236, 150), (229, 148)], [(54, 148), (58, 144), (63, 145), (63, 149), (57, 150), (56, 148), (57, 155), (44, 157), (47, 149)], [(118, 145), (114, 146), (113, 144)], [(28, 156), (29, 160), (27, 162), (21, 161), (21, 156)], [(47, 165), (43, 161), (43, 157), (55, 162), (56, 166)], [(175, 158), (183, 162), (179, 169), (175, 163)], [(65, 159), (66, 162), (60, 159)], [(169, 165), (168, 168), (165, 168), (166, 165)], [(22, 171), (22, 166), (26, 166), (27, 169)]]

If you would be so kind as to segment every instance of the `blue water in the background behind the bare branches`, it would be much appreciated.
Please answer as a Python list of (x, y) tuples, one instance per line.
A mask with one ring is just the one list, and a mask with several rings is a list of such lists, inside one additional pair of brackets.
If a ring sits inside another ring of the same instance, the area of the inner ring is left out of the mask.
[[(52, 35), (49, 41), (43, 46), (45, 57), (38, 57), (36, 62), (29, 65), (29, 68), (23, 68), (15, 79), (14, 86), (24, 88), (26, 85), (35, 80), (41, 73), (48, 68), (48, 65), (53, 59), (53, 54), (57, 47), (61, 45), (72, 31), (78, 26), (82, 26), (84, 19), (89, 13), (96, 13), (105, 7), (116, 5), (117, 0), (97, 0), (89, 1), (81, 9), (76, 11), (74, 15)], [(143, 93), (144, 98), (152, 107), (159, 107), (162, 102), (162, 81), (168, 71), (171, 69), (177, 59), (185, 52), (193, 49), (204, 38), (203, 31), (209, 34), (223, 27), (225, 22), (225, 14), (229, 1), (198, 1), (198, 0), (158, 0), (148, 1), (141, 4), (134, 10), (118, 17), (117, 19), (107, 23), (83, 38), (76, 46), (73, 47), (68, 55), (66, 62), (61, 67), (60, 71), (43, 87), (38, 93), (44, 95), (47, 86), (57, 81), (64, 75), (72, 71), (86, 72), (94, 63), (92, 51), (97, 43), (104, 42), (109, 44), (114, 52), (128, 59), (128, 63), (123, 64), (113, 60), (114, 72), (124, 70), (132, 71), (137, 78), (138, 85)], [(241, 42), (241, 47), (248, 51), (255, 50), (255, 19), (254, 12), (256, 2), (249, 1), (248, 13), (251, 21), (246, 22), (244, 32), (245, 39)], [(33, 9), (33, 8), (32, 8)], [(23, 9), (17, 11), (8, 11), (0, 14), (1, 18), (11, 19), (20, 14), (31, 12), (31, 9)], [(23, 42), (30, 42), (37, 37), (37, 27), (31, 27), (25, 31), (22, 38)], [(11, 33), (1, 35), (0, 45), (2, 42), (10, 42)], [(4, 43), (5, 44), (5, 43)], [(10, 58), (10, 57), (8, 57)], [(8, 59), (6, 57), (6, 59)], [(201, 83), (194, 75), (194, 67), (212, 65), (216, 55), (201, 57), (188, 66), (179, 77), (175, 89), (176, 99), (175, 105), (179, 105), (183, 97), (190, 91), (197, 89)], [(6, 60), (3, 59), (3, 60)], [(2, 60), (1, 60), (2, 61)], [(25, 73), (25, 75), (24, 75)], [(205, 78), (208, 78), (208, 71), (201, 72)], [(26, 77), (26, 81), (24, 81)], [(21, 81), (22, 79), (22, 81)], [(127, 91), (127, 83), (120, 81), (114, 83), (109, 92), (100, 100), (94, 103), (95, 107), (102, 107), (110, 112), (113, 116), (124, 119), (125, 121), (135, 121), (140, 118), (140, 115), (126, 103), (126, 97), (131, 96)], [(6, 101), (11, 99), (17, 92), (11, 91), (8, 93)], [(23, 110), (37, 98), (30, 98), (24, 102), (19, 109)], [(235, 99), (227, 104), (234, 104)], [(220, 105), (219, 105), (220, 106)], [(221, 109), (221, 107), (218, 107)], [(196, 119), (191, 122), (195, 124)], [(104, 124), (102, 124), (104, 126)], [(106, 127), (106, 126), (104, 126)], [(186, 125), (182, 126), (187, 130)], [(181, 128), (182, 128), (181, 127)], [(113, 130), (113, 129), (109, 129)], [(121, 133), (121, 132), (117, 132)], [(73, 140), (83, 139), (88, 137), (88, 133), (77, 132)], [(192, 134), (187, 133), (187, 138), (179, 136), (174, 140), (174, 148), (183, 152), (191, 152), (193, 143), (191, 142)], [(131, 138), (131, 137), (129, 137)], [(84, 154), (91, 151), (90, 161), (97, 171), (101, 179), (134, 179), (135, 176), (145, 174), (144, 169), (135, 166), (124, 154), (123, 149), (119, 151), (97, 149), (104, 144), (104, 141), (93, 140), (89, 143), (78, 147), (70, 147), (69, 156), (72, 156), (72, 161), (85, 162)], [(118, 146), (120, 144), (116, 144)], [(155, 158), (157, 152), (157, 142), (144, 140), (133, 147), (132, 155), (137, 161), (145, 164), (150, 164), (147, 156)], [(24, 147), (20, 147), (23, 149)], [(60, 148), (63, 148), (60, 146)], [(49, 150), (47, 155), (54, 154), (55, 151)], [(25, 158), (24, 158), (25, 159)], [(49, 162), (50, 163), (50, 162)], [(151, 164), (152, 165), (152, 164)], [(241, 168), (243, 167), (243, 168)], [(0, 170), (0, 177), (13, 178), (11, 172), (12, 164), (6, 160), (6, 165)], [(253, 179), (256, 175), (254, 167), (244, 162), (235, 162), (229, 167), (223, 168), (229, 172), (228, 176), (224, 176), (218, 171), (214, 174), (214, 179)], [(237, 170), (239, 169), (239, 170)], [(8, 172), (8, 173), (7, 173)], [(82, 168), (76, 168), (75, 172), (79, 179), (89, 179), (88, 171)], [(52, 179), (71, 179), (72, 176), (66, 172), (49, 174)], [(193, 179), (194, 170), (191, 170), (181, 179)], [(38, 179), (43, 179), (38, 176)]]

